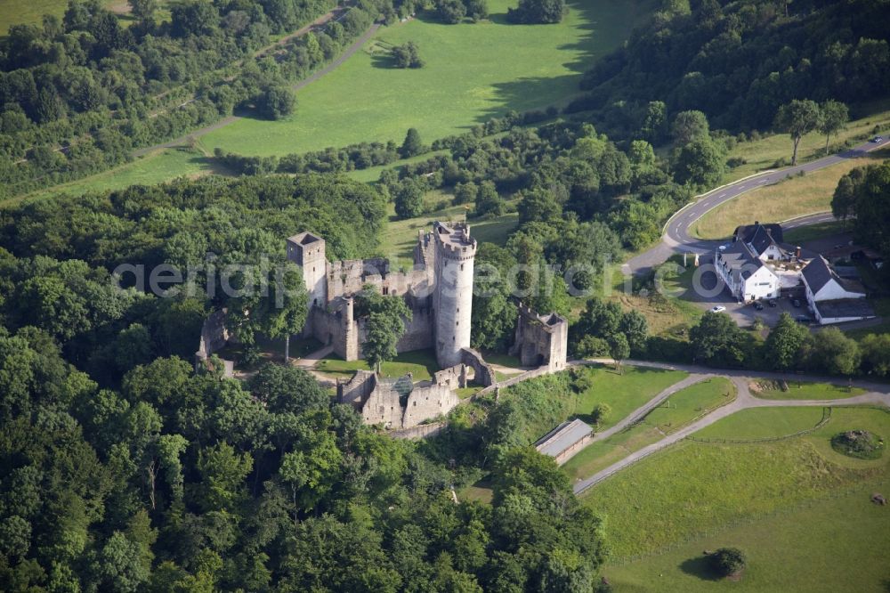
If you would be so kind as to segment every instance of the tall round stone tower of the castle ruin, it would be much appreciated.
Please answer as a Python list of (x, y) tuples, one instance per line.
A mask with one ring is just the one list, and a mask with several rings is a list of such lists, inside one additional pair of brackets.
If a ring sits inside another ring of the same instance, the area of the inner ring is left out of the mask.
[(434, 223), (433, 241), (433, 332), (436, 360), (446, 369), (461, 361), (462, 348), (470, 347), (476, 240), (466, 223)]

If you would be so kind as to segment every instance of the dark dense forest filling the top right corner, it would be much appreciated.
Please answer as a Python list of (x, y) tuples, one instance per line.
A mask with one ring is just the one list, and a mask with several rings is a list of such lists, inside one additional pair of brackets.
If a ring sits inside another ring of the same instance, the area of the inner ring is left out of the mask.
[(890, 93), (886, 10), (874, 0), (668, 0), (596, 61), (570, 110), (594, 110), (610, 134), (658, 144), (665, 129), (645, 125), (652, 101), (667, 105), (667, 120), (700, 110), (735, 132), (769, 128), (793, 99), (881, 98)]

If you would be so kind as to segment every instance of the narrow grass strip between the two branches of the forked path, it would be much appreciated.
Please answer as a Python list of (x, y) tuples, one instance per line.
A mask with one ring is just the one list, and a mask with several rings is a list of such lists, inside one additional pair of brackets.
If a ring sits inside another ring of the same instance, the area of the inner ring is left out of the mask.
[(562, 471), (573, 481), (593, 475), (630, 453), (658, 442), (708, 410), (732, 402), (734, 396), (735, 387), (725, 378), (711, 378), (688, 386), (671, 395), (668, 402), (652, 410), (642, 422), (587, 446), (569, 459)]

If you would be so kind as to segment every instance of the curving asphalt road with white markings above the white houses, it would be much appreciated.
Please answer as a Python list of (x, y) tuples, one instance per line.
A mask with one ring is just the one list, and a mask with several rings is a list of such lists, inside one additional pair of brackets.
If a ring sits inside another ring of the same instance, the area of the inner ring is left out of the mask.
[[(708, 214), (714, 208), (721, 206), (730, 199), (737, 198), (743, 193), (756, 190), (765, 185), (779, 183), (786, 177), (797, 175), (801, 171), (811, 173), (825, 167), (831, 167), (849, 158), (860, 158), (870, 152), (870, 150), (883, 148), (887, 144), (888, 141), (886, 140), (880, 143), (863, 142), (859, 146), (828, 157), (818, 158), (795, 167), (764, 171), (763, 173), (751, 175), (737, 182), (728, 183), (708, 191), (702, 194), (700, 199), (687, 204), (677, 211), (675, 215), (671, 216), (665, 225), (661, 242), (645, 253), (627, 260), (627, 271), (635, 274), (647, 273), (651, 271), (652, 267), (665, 262), (671, 255), (684, 251), (694, 253), (713, 252), (719, 241), (700, 240), (693, 237), (689, 230), (694, 223), (698, 222), (702, 216)], [(783, 226), (792, 229), (806, 224), (823, 223), (829, 220), (834, 220), (834, 216), (829, 213), (821, 213), (795, 218), (787, 221), (787, 223), (783, 223)]]

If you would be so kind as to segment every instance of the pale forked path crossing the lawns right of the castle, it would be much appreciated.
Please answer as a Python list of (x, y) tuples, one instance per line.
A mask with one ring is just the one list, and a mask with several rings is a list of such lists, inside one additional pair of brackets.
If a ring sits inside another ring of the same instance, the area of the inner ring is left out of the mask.
[[(584, 364), (587, 361), (573, 361), (574, 364)], [(862, 388), (869, 389), (869, 392), (862, 395), (856, 395), (854, 397), (848, 397), (844, 399), (837, 400), (764, 400), (754, 397), (750, 390), (748, 389), (748, 378), (785, 378), (789, 379), (788, 375), (782, 375), (781, 373), (757, 373), (751, 371), (724, 371), (724, 370), (713, 370), (702, 367), (697, 367), (694, 365), (667, 365), (660, 364), (657, 362), (648, 362), (648, 361), (628, 361), (623, 364), (630, 364), (632, 366), (645, 366), (652, 368), (661, 368), (661, 369), (678, 369), (678, 370), (695, 370), (697, 372), (698, 380), (707, 377), (729, 377), (732, 380), (732, 383), (736, 386), (737, 396), (736, 399), (726, 405), (717, 408), (716, 410), (710, 412), (706, 416), (699, 418), (692, 422), (692, 424), (688, 426), (684, 426), (683, 428), (676, 431), (676, 433), (672, 433), (671, 435), (667, 435), (665, 438), (661, 439), (658, 443), (652, 443), (649, 446), (643, 447), (643, 449), (639, 451), (634, 451), (625, 457), (624, 459), (619, 460), (616, 463), (613, 463), (611, 466), (606, 467), (605, 469), (596, 472), (594, 475), (579, 481), (574, 486), (574, 491), (576, 494), (580, 494), (587, 489), (591, 488), (597, 483), (602, 482), (607, 477), (619, 472), (621, 469), (625, 467), (631, 466), (637, 461), (641, 459), (645, 459), (652, 453), (660, 451), (665, 447), (677, 443), (678, 441), (683, 440), (689, 435), (692, 435), (695, 432), (698, 432), (705, 426), (710, 426), (714, 424), (717, 420), (726, 418), (727, 416), (731, 416), (735, 412), (739, 410), (746, 410), (748, 408), (769, 408), (769, 407), (804, 407), (804, 406), (818, 406), (818, 407), (829, 407), (829, 406), (849, 406), (849, 405), (862, 405), (862, 404), (870, 404), (870, 405), (883, 405), (890, 408), (890, 385), (879, 384), (879, 383), (871, 383), (868, 381), (854, 381), (854, 386), (862, 386)], [(692, 377), (690, 377), (692, 378)], [(688, 381), (690, 378), (684, 379), (684, 381)], [(809, 375), (801, 375), (801, 376), (793, 376), (793, 378), (799, 378), (801, 380), (806, 381), (824, 381), (826, 378), (809, 376)], [(837, 382), (837, 378), (835, 378), (835, 382)], [(683, 381), (681, 381), (683, 383)], [(679, 385), (679, 384), (677, 384)], [(682, 388), (682, 387), (681, 387)], [(663, 394), (663, 392), (662, 392)], [(658, 405), (662, 394), (656, 395), (649, 404), (645, 407), (654, 407)], [(653, 404), (654, 405), (651, 405)], [(641, 408), (640, 410), (643, 410)], [(637, 410), (639, 411), (639, 410)], [(637, 412), (634, 412), (634, 416)], [(627, 423), (628, 425), (630, 423)], [(617, 432), (617, 431), (615, 431)], [(611, 433), (614, 434), (614, 433)], [(605, 433), (603, 433), (605, 435)], [(606, 438), (603, 436), (603, 438)], [(598, 439), (595, 439), (598, 440)]]

